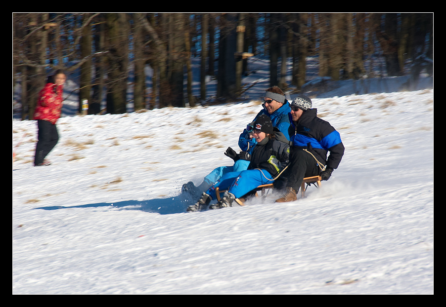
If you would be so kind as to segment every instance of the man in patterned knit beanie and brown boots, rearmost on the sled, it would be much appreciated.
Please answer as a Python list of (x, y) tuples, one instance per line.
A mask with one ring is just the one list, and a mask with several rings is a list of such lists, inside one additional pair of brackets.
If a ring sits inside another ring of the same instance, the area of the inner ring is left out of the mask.
[(312, 109), (312, 101), (307, 96), (293, 100), (290, 117), (292, 125), (288, 135), (293, 144), (288, 167), (282, 174), (286, 188), (284, 196), (276, 202), (296, 200), (305, 177), (319, 175), (322, 180), (328, 180), (345, 150), (339, 133), (328, 121), (317, 117), (317, 110)]

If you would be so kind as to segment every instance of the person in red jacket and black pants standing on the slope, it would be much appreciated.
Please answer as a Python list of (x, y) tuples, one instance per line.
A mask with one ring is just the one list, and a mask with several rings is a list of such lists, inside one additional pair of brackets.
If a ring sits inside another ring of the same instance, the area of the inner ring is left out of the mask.
[(34, 156), (35, 166), (50, 164), (45, 157), (59, 141), (56, 122), (62, 110), (62, 93), (65, 81), (65, 73), (57, 70), (54, 75), (48, 77), (45, 87), (39, 93), (34, 112), (34, 119), (37, 120), (38, 126), (38, 142)]

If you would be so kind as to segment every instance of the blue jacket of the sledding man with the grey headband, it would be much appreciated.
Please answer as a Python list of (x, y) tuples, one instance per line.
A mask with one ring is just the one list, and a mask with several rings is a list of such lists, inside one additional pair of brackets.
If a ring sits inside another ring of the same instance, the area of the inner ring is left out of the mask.
[[(288, 130), (291, 127), (291, 120), (289, 117), (289, 113), (291, 112), (290, 104), (288, 101), (285, 100), (285, 103), (276, 111), (274, 111), (272, 114), (269, 114), (267, 109), (265, 108), (265, 104), (262, 105), (263, 110), (260, 111), (253, 121), (257, 119), (262, 114), (268, 115), (269, 118), (271, 118), (272, 126), (279, 129), (280, 132), (282, 132), (287, 140), (289, 141), (289, 134)], [(238, 138), (238, 146), (240, 149), (244, 152), (248, 152), (252, 154), (252, 150), (254, 146), (256, 146), (257, 142), (254, 138), (250, 139), (248, 131), (246, 129), (243, 130), (243, 132), (240, 134)]]

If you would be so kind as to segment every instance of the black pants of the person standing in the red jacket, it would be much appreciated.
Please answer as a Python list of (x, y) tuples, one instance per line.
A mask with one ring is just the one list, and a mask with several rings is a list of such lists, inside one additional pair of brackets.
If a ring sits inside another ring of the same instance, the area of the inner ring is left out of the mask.
[(40, 165), (46, 155), (56, 146), (59, 141), (56, 125), (46, 120), (37, 120), (38, 141), (36, 145), (36, 154), (34, 156), (34, 165)]

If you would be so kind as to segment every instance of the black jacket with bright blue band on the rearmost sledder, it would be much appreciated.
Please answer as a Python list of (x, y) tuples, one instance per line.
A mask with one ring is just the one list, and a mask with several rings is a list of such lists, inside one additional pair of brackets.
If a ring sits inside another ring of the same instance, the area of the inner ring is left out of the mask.
[[(291, 114), (290, 119), (289, 136), (293, 142), (292, 150), (307, 149), (326, 168), (336, 169), (345, 151), (339, 132), (328, 121), (317, 117), (316, 109), (305, 111), (297, 123), (293, 122)], [(327, 157), (328, 152), (330, 154)]]

